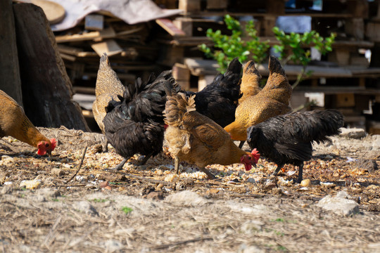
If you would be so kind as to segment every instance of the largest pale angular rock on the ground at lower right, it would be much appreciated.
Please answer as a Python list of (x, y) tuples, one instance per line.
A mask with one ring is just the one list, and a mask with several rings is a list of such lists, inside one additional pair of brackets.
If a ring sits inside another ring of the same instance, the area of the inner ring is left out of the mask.
[(317, 207), (322, 207), (327, 211), (332, 211), (336, 214), (350, 216), (359, 213), (359, 205), (354, 200), (350, 200), (350, 195), (346, 192), (339, 192), (336, 197), (327, 195), (319, 200)]

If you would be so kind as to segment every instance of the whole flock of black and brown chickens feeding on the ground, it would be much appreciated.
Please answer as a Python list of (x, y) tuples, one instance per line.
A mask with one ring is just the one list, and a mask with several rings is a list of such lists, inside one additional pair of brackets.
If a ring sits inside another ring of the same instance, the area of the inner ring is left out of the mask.
[[(312, 157), (312, 142), (327, 141), (327, 136), (338, 134), (343, 115), (338, 110), (291, 112), (292, 89), (277, 58), (270, 57), (270, 75), (263, 89), (253, 61), (244, 65), (242, 75), (241, 70), (235, 58), (225, 74), (218, 74), (196, 93), (182, 90), (171, 71), (123, 86), (104, 54), (93, 112), (107, 141), (124, 157), (113, 169), (122, 169), (137, 153), (145, 156), (144, 164), (158, 155), (165, 143), (174, 157), (176, 173), (179, 162), (186, 161), (196, 164), (208, 179), (215, 179), (205, 166), (241, 163), (249, 171), (263, 155), (277, 163), (274, 174), (284, 164), (298, 166), (300, 183), (303, 162)], [(39, 148), (39, 155), (54, 150), (56, 140), (40, 134), (23, 108), (3, 91), (0, 103), (6, 105), (0, 108), (0, 138), (18, 138)], [(5, 115), (23, 120), (5, 120)], [(241, 145), (234, 141), (241, 141)], [(251, 152), (241, 149), (244, 141)]]

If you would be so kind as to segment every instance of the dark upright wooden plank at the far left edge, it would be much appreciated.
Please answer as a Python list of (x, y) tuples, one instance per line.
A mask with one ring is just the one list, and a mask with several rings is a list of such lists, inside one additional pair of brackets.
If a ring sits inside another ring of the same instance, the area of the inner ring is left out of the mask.
[(0, 89), (23, 105), (12, 0), (0, 1)]

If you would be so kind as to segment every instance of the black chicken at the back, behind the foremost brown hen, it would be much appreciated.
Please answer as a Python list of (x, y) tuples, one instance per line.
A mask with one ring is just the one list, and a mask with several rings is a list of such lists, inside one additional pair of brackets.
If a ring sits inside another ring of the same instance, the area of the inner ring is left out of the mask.
[(241, 63), (234, 58), (224, 74), (218, 74), (211, 84), (198, 92), (184, 91), (186, 96), (196, 95), (196, 111), (224, 127), (234, 122), (240, 93)]

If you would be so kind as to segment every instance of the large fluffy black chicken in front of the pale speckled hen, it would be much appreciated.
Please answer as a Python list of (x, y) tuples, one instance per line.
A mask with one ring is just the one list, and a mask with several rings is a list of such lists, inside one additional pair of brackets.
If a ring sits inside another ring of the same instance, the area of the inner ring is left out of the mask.
[(108, 103), (104, 133), (116, 152), (124, 157), (115, 170), (122, 169), (134, 154), (145, 155), (140, 163), (145, 164), (163, 149), (165, 89), (175, 86), (171, 71), (162, 72), (157, 78), (151, 74), (147, 82), (138, 78), (134, 85), (127, 86), (124, 95), (118, 97), (120, 101)]

